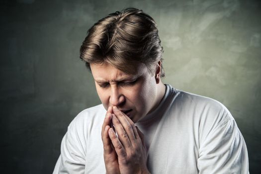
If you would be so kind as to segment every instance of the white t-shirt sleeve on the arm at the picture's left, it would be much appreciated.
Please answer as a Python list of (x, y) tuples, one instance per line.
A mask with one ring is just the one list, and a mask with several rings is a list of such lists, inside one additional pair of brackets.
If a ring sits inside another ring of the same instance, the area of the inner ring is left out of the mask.
[(73, 121), (63, 137), (61, 155), (57, 161), (53, 174), (84, 174), (85, 173), (85, 146), (83, 136)]

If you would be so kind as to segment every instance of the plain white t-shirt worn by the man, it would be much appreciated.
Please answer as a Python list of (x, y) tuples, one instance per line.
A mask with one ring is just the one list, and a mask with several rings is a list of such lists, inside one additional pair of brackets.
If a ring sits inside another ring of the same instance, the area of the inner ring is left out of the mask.
[[(101, 126), (106, 110), (83, 110), (62, 140), (53, 174), (105, 174)], [(152, 174), (248, 174), (248, 152), (220, 102), (166, 85), (159, 107), (136, 125), (145, 135)]]

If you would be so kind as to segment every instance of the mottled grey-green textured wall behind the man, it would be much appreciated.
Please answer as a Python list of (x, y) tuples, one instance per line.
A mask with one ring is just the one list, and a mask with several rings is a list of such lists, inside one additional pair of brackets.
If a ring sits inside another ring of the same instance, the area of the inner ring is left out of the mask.
[(261, 3), (254, 0), (1, 0), (1, 171), (50, 174), (70, 121), (99, 99), (79, 59), (87, 29), (138, 7), (159, 25), (165, 83), (215, 98), (261, 173)]

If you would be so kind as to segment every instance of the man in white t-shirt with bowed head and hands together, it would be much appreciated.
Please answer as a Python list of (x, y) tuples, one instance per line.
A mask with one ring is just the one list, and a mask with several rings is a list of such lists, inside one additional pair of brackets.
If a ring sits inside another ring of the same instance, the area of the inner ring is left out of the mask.
[[(54, 174), (247, 174), (245, 141), (227, 108), (164, 85), (154, 19), (127, 8), (81, 46), (100, 105), (79, 113)], [(101, 137), (100, 137), (101, 136)]]

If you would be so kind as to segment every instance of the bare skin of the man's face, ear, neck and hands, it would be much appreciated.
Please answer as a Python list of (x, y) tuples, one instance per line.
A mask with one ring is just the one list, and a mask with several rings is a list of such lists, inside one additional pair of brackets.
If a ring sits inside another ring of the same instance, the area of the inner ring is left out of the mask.
[(137, 73), (128, 75), (107, 63), (90, 64), (107, 109), (101, 132), (107, 174), (149, 174), (144, 135), (134, 123), (153, 111), (164, 96), (160, 67), (161, 62), (152, 74), (140, 63)]

